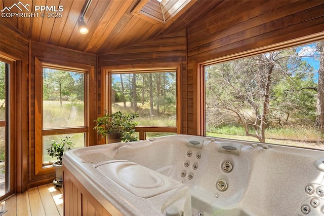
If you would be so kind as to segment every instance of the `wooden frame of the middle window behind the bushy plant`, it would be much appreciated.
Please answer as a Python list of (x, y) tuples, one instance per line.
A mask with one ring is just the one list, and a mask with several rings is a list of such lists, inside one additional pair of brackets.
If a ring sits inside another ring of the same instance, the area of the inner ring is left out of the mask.
[[(101, 69), (101, 79), (104, 81), (101, 93), (104, 95), (104, 101), (102, 104), (101, 113), (105, 110), (110, 112), (111, 110), (111, 74), (130, 74), (130, 73), (150, 73), (151, 72), (176, 72), (176, 126), (138, 126), (135, 128), (136, 132), (139, 132), (139, 139), (144, 140), (146, 138), (146, 132), (174, 132), (181, 133), (181, 68), (182, 64), (179, 62), (173, 63), (148, 63), (148, 64), (132, 64), (132, 65), (117, 65), (117, 66), (103, 66)], [(100, 143), (107, 143), (105, 138), (101, 138)]]

